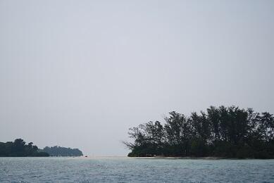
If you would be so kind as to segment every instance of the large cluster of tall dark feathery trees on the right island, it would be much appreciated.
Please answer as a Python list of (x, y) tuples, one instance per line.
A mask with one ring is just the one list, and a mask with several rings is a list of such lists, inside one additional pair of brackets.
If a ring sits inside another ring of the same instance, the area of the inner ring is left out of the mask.
[(273, 114), (235, 106), (211, 106), (189, 117), (169, 114), (164, 123), (130, 128), (128, 156), (274, 158)]

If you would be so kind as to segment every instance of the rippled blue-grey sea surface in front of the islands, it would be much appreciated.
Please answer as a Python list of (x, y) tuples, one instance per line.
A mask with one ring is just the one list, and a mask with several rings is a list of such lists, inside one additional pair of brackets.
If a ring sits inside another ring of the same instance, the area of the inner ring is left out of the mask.
[(274, 160), (0, 158), (0, 182), (274, 182)]

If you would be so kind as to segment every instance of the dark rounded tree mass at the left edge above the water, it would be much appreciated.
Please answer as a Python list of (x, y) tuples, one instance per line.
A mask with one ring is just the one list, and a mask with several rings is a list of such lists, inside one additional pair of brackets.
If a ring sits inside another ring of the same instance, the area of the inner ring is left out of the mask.
[(49, 156), (48, 153), (38, 152), (37, 146), (33, 143), (25, 143), (23, 139), (15, 139), (15, 141), (0, 142), (0, 156), (8, 157), (24, 157), (24, 156)]

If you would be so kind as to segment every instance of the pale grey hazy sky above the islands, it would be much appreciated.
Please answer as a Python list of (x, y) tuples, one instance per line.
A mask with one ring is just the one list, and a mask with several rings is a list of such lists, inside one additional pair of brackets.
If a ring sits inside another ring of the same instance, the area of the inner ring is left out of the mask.
[(0, 141), (126, 156), (170, 111), (274, 113), (274, 1), (0, 0)]

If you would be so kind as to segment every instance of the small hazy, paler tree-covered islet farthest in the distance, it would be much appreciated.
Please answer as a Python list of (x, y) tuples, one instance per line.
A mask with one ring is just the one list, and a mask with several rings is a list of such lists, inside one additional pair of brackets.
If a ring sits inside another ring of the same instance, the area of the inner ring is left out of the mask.
[(50, 156), (83, 156), (79, 149), (70, 149), (61, 146), (46, 146), (42, 151), (49, 153)]

